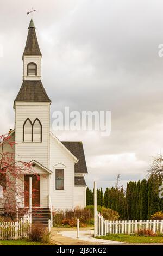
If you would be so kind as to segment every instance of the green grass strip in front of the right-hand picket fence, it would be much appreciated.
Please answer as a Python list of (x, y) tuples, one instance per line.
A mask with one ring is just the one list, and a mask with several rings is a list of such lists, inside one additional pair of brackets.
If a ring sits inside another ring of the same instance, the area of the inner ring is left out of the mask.
[(162, 236), (137, 236), (137, 235), (106, 235), (97, 237), (126, 243), (163, 243)]

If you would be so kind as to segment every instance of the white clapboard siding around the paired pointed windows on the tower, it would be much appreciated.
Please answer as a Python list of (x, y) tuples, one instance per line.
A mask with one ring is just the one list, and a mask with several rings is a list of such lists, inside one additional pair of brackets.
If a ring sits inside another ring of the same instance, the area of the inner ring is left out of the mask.
[[(36, 160), (49, 168), (49, 102), (15, 103), (15, 156), (16, 161)], [(42, 142), (23, 142), (23, 124), (29, 118), (32, 123), (38, 118), (42, 124)]]

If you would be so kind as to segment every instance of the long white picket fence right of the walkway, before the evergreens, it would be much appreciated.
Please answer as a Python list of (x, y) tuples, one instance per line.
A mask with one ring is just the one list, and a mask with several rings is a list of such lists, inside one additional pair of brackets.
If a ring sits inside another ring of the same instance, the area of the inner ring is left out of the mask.
[(97, 211), (97, 236), (106, 234), (134, 234), (140, 229), (163, 233), (163, 220), (108, 221)]

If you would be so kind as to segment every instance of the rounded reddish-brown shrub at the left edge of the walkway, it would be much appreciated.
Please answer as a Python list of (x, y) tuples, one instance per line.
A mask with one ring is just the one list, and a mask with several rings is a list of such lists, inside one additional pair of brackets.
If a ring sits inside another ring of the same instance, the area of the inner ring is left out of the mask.
[(49, 243), (48, 229), (42, 224), (32, 225), (29, 239), (34, 242)]

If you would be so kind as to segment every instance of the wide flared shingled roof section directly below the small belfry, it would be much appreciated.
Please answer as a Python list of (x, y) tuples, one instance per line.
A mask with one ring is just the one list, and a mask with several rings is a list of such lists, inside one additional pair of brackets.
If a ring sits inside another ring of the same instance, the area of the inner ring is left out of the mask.
[(41, 80), (23, 80), (15, 101), (51, 102)]

